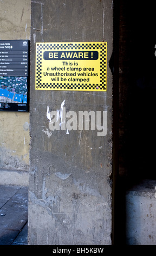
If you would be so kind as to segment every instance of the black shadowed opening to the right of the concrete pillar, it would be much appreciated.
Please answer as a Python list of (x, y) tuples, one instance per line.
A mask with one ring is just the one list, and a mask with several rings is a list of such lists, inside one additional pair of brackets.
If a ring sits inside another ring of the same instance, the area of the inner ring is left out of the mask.
[(116, 8), (119, 11), (119, 175), (115, 193), (115, 245), (126, 243), (126, 191), (141, 180), (156, 180), (155, 7), (153, 2), (120, 0)]

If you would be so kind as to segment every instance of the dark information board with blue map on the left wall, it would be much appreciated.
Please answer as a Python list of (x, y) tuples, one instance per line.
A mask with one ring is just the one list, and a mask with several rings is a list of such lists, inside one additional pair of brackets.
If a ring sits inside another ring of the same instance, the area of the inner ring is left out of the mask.
[(0, 111), (29, 111), (29, 40), (0, 40)]

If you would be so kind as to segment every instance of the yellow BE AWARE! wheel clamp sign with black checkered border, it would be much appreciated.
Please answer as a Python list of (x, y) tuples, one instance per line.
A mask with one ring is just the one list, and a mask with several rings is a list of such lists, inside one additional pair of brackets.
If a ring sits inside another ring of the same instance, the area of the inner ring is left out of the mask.
[(107, 91), (107, 42), (37, 42), (36, 90)]

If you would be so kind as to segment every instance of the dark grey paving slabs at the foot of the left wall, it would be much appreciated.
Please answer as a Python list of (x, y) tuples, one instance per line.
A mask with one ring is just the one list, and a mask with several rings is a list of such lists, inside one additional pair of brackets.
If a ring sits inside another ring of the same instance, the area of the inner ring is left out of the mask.
[(28, 245), (28, 187), (0, 185), (0, 245)]

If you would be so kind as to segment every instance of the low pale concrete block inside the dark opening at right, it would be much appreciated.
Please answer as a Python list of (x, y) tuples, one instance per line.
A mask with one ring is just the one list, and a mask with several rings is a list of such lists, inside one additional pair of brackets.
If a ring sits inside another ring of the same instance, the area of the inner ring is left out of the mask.
[(155, 245), (155, 185), (155, 180), (142, 180), (126, 191), (127, 245)]

